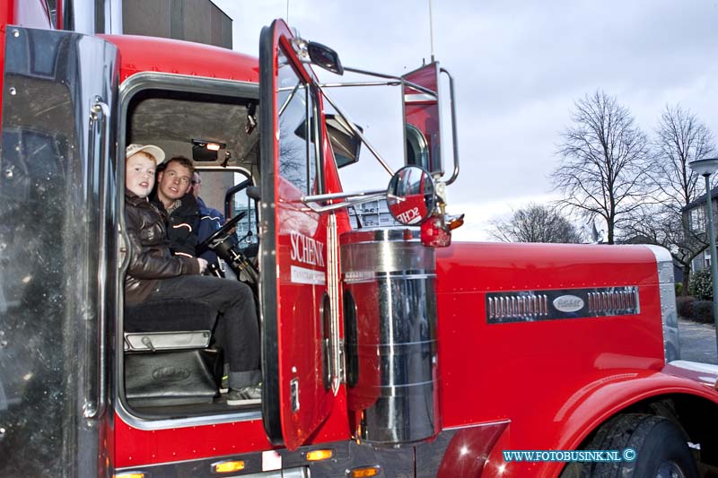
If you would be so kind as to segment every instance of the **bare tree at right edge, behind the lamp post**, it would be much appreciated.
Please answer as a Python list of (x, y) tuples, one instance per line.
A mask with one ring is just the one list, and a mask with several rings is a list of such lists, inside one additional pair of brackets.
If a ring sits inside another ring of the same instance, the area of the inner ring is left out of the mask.
[(625, 233), (638, 235), (670, 250), (683, 269), (688, 290), (691, 263), (707, 247), (705, 230), (692, 229), (683, 208), (705, 194), (704, 181), (688, 162), (715, 152), (711, 131), (690, 110), (667, 105), (661, 113), (652, 153), (653, 205), (635, 214)]

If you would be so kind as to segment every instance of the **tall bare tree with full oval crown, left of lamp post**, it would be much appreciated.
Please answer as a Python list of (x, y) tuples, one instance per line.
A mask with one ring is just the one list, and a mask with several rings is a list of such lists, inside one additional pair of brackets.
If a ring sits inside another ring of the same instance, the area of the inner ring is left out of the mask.
[(574, 104), (574, 126), (562, 134), (561, 165), (552, 173), (558, 204), (606, 221), (608, 243), (646, 195), (648, 140), (628, 109), (604, 91)]

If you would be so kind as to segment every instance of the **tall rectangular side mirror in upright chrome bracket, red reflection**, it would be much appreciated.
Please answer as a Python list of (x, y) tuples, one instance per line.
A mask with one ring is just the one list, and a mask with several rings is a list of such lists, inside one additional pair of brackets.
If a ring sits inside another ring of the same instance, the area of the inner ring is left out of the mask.
[(407, 165), (443, 174), (439, 64), (431, 63), (405, 74), (404, 155)]

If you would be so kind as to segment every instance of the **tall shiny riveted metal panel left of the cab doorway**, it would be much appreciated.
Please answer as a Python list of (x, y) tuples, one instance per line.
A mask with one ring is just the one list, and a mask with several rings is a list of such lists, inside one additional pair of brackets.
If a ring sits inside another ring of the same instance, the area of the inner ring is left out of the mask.
[(1, 34), (0, 476), (104, 476), (119, 53), (68, 31)]

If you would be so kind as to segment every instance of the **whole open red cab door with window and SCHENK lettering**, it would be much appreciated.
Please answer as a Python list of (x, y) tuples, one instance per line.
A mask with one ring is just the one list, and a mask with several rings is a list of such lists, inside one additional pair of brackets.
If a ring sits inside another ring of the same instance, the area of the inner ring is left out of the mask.
[[(338, 387), (329, 370), (327, 324), (336, 284), (328, 214), (302, 196), (321, 192), (320, 100), (285, 22), (259, 42), (261, 200), (259, 205), (262, 414), (267, 437), (295, 449), (324, 422)], [(336, 244), (336, 243), (335, 243)], [(334, 312), (336, 313), (336, 311)]]

